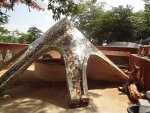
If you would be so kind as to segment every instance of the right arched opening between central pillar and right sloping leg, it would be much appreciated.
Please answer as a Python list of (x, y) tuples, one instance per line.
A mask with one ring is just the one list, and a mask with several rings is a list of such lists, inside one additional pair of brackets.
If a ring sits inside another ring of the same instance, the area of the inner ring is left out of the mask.
[[(118, 83), (114, 83), (115, 73), (108, 65), (105, 65), (103, 60), (97, 55), (90, 55), (87, 61), (87, 80), (89, 89), (116, 87)], [(113, 85), (112, 85), (113, 82)]]

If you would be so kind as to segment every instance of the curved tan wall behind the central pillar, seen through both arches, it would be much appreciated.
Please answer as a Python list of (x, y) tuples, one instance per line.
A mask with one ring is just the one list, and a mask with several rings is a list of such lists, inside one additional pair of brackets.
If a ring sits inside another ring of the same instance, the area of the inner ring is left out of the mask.
[[(61, 59), (52, 59), (43, 61), (39, 59), (35, 61), (34, 76), (44, 81), (58, 82), (66, 80), (65, 64), (62, 64)], [(88, 78), (103, 81), (117, 81), (119, 78), (114, 76), (113, 71), (108, 70), (98, 60), (98, 56), (91, 55), (88, 60), (86, 73)]]

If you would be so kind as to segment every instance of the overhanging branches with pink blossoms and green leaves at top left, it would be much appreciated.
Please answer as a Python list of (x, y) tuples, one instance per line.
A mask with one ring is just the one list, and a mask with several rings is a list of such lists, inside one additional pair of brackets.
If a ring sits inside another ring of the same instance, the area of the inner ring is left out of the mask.
[[(0, 15), (5, 15), (5, 12), (2, 12), (1, 8), (5, 8), (6, 10), (13, 10), (14, 5), (18, 3), (26, 4), (29, 8), (29, 11), (30, 8), (34, 8), (39, 11), (45, 10), (45, 8), (40, 6), (35, 0), (0, 0)], [(77, 7), (78, 4), (75, 4), (73, 0), (49, 0), (47, 9), (53, 12), (53, 18), (57, 20), (61, 15), (68, 16), (71, 14), (71, 12), (76, 12), (78, 9)], [(6, 20), (5, 18), (3, 19)]]

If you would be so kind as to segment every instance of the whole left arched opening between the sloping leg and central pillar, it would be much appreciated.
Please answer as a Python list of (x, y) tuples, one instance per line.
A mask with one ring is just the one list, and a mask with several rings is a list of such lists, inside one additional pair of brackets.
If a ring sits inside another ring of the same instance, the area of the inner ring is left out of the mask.
[(64, 58), (58, 50), (53, 48), (34, 59), (33, 63), (13, 84), (41, 84), (44, 82), (46, 84), (50, 82), (66, 82)]

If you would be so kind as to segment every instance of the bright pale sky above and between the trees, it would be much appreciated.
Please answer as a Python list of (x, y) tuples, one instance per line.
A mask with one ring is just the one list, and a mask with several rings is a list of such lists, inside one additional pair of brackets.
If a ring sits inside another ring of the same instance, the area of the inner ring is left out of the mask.
[[(98, 2), (105, 2), (105, 9), (111, 9), (111, 7), (117, 7), (118, 5), (126, 6), (131, 5), (134, 11), (139, 11), (144, 9), (144, 2), (142, 0), (97, 0)], [(47, 1), (42, 2), (42, 6), (47, 6)], [(26, 32), (28, 28), (35, 26), (45, 32), (55, 21), (52, 18), (52, 12), (38, 11), (36, 9), (28, 10), (28, 7), (24, 4), (18, 4), (14, 7), (15, 11), (7, 11), (10, 15), (9, 23), (5, 25), (8, 30), (19, 30)]]

